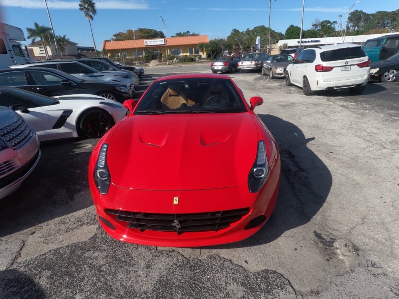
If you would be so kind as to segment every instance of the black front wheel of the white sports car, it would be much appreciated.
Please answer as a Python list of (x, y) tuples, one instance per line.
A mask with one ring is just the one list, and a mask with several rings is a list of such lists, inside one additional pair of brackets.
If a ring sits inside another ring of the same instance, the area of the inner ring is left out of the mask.
[(114, 119), (103, 109), (93, 108), (84, 111), (76, 123), (79, 137), (102, 137), (113, 125)]

